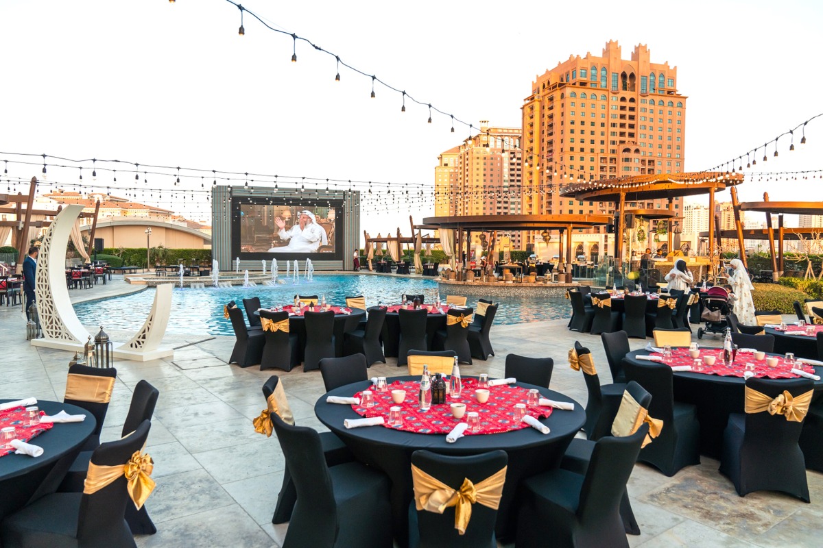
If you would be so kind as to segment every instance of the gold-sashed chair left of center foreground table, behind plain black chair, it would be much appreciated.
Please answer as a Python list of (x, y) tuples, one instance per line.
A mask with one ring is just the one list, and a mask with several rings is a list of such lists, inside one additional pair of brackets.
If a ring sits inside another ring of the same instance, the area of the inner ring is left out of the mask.
[[(280, 377), (272, 375), (263, 383), (263, 398), (266, 398), (266, 408), (260, 414), (260, 417), (255, 418), (254, 430), (259, 434), (272, 435), (274, 426), (272, 425), (271, 415), (277, 414), (286, 424), (294, 424), (295, 418), (289, 407), (289, 400), (286, 398), (286, 390), (280, 382)], [(346, 444), (337, 437), (333, 432), (318, 432), (320, 438), (320, 446), (323, 449), (323, 457), (326, 459), (328, 466), (335, 466), (342, 463), (351, 463), (354, 460), (354, 455), (351, 450), (346, 447)], [(295, 501), (297, 500), (297, 491), (295, 490), (294, 481), (291, 480), (291, 473), (289, 467), (286, 466), (283, 470), (283, 484), (280, 488), (280, 493), (277, 495), (277, 504), (275, 505), (274, 515), (272, 516), (272, 523), (287, 523), (291, 519), (291, 512), (295, 508)]]

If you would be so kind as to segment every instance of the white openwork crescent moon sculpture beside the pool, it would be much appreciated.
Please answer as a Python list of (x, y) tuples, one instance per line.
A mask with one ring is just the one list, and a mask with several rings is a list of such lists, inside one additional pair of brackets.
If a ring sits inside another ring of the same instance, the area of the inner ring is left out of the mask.
[[(68, 238), (82, 210), (82, 205), (64, 207), (49, 226), (40, 246), (35, 296), (44, 338), (32, 339), (34, 346), (77, 351), (90, 336), (77, 318), (66, 284)], [(160, 348), (171, 313), (171, 288), (170, 283), (157, 286), (154, 304), (142, 329), (128, 343), (115, 345), (114, 357), (134, 361), (174, 357), (173, 349)]]

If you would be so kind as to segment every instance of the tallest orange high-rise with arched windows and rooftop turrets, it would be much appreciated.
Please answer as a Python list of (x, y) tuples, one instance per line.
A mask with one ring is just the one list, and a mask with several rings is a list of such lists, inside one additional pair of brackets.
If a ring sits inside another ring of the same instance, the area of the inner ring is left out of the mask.
[[(677, 68), (651, 62), (643, 44), (623, 59), (610, 40), (602, 56), (570, 56), (532, 81), (523, 102), (523, 213), (613, 213), (609, 202), (561, 199), (557, 190), (580, 180), (681, 173), (685, 150), (686, 97), (677, 92)], [(677, 198), (672, 207), (681, 205)], [(667, 203), (655, 200), (653, 207)]]

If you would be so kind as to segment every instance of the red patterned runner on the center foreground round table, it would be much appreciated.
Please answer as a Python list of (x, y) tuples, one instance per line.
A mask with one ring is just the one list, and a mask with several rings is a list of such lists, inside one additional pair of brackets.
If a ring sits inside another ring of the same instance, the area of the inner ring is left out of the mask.
[[(406, 399), (403, 403), (394, 403), (392, 400), (392, 390), (406, 390)], [(466, 417), (456, 419), (452, 417), (450, 403), (465, 403), (466, 412), (477, 411), (480, 413), (480, 431), (466, 431), (466, 435), (477, 434), (500, 434), (528, 428), (525, 422), (514, 421), (514, 404), (526, 403), (528, 389), (514, 385), (492, 386), (489, 388), (489, 400), (486, 403), (477, 403), (474, 398), (474, 391), (477, 389), (477, 379), (463, 379), (463, 390), (459, 398), (452, 399), (446, 396), (446, 403), (432, 405), (429, 411), (421, 412), (418, 404), (420, 394), (420, 383), (414, 380), (395, 380), (388, 385), (386, 392), (377, 392), (372, 388), (374, 394), (374, 407), (362, 408), (359, 405), (352, 405), (358, 415), (363, 417), (383, 417), (384, 425), (387, 428), (414, 432), (416, 434), (449, 434), (457, 426), (458, 422), (465, 422)], [(355, 394), (360, 398), (360, 392)], [(401, 408), (403, 422), (401, 426), (388, 425), (388, 408), (398, 405)], [(542, 406), (526, 406), (526, 412), (532, 417), (549, 417), (552, 408)]]

